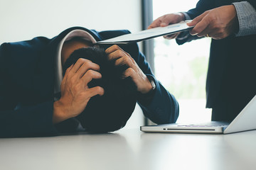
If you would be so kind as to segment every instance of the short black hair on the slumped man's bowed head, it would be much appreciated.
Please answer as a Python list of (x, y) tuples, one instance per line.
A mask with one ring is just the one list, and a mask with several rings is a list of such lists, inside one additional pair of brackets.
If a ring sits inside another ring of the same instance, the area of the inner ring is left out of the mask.
[(82, 127), (91, 132), (112, 132), (123, 128), (137, 102), (137, 88), (134, 82), (130, 77), (122, 79), (127, 65), (115, 66), (114, 60), (108, 60), (102, 48), (84, 47), (75, 50), (66, 60), (63, 74), (79, 58), (100, 65), (102, 79), (92, 79), (88, 86), (101, 86), (105, 90), (103, 96), (90, 98), (85, 111), (78, 115)]

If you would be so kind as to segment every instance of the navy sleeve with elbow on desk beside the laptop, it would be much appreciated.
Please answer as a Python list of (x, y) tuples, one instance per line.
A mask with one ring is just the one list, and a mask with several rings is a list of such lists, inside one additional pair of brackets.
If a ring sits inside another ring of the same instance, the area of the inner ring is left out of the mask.
[(149, 100), (144, 96), (139, 97), (138, 103), (144, 115), (156, 124), (175, 123), (179, 111), (176, 98), (156, 80), (141, 52), (139, 52), (137, 64), (142, 69), (142, 72), (153, 79), (156, 84), (154, 94)]

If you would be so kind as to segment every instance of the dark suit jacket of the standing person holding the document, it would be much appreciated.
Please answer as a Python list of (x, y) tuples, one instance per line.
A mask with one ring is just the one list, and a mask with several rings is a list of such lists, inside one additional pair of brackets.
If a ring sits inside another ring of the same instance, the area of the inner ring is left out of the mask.
[[(191, 18), (204, 11), (231, 4), (232, 0), (201, 0), (188, 11)], [(255, 3), (252, 3), (255, 7)], [(179, 45), (198, 39), (189, 36), (176, 40)], [(206, 81), (207, 108), (213, 108), (212, 120), (232, 121), (256, 94), (256, 35), (212, 40)]]

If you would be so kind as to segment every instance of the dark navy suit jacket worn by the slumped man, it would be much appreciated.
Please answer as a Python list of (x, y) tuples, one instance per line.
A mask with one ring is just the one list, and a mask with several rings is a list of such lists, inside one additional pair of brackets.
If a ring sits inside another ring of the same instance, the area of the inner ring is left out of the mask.
[[(69, 28), (53, 39), (33, 38), (23, 42), (4, 43), (0, 47), (0, 137), (58, 135), (52, 123), (55, 55), (58, 43), (71, 30), (89, 32), (96, 40), (129, 33), (127, 30), (97, 32), (86, 28)], [(108, 46), (102, 46), (107, 48)], [(124, 45), (142, 71), (154, 76), (137, 44)], [(144, 115), (154, 123), (174, 123), (178, 103), (174, 96), (156, 81), (154, 98), (139, 98)], [(70, 124), (66, 124), (69, 125)], [(72, 125), (71, 125), (72, 126)], [(72, 128), (64, 127), (62, 128)], [(74, 127), (73, 127), (74, 128)]]

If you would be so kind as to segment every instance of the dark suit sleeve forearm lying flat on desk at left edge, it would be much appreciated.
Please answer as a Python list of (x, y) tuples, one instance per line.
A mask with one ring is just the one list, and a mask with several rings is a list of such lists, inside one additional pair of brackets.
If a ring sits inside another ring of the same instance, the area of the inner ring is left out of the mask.
[[(1, 100), (0, 102), (2, 103)], [(0, 111), (0, 137), (57, 135), (57, 130), (53, 126), (52, 113), (53, 101)]]

